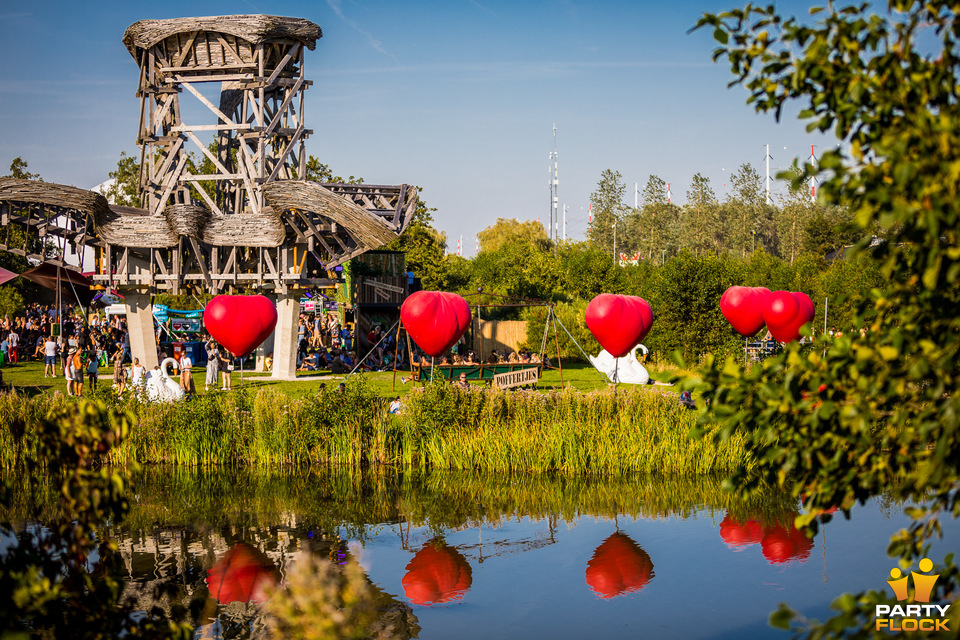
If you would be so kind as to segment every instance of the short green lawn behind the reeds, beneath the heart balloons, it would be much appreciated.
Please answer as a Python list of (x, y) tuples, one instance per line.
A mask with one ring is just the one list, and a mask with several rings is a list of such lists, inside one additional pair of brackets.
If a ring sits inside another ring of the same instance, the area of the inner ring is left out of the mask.
[[(53, 390), (66, 391), (66, 382), (63, 377), (44, 378), (43, 363), (41, 362), (22, 362), (20, 364), (0, 368), (3, 372), (3, 380), (7, 384), (12, 384), (17, 389), (28, 394), (42, 393)], [(112, 384), (113, 369), (110, 367), (100, 370), (100, 384)], [(667, 370), (662, 372), (651, 372), (651, 377), (659, 381), (667, 381), (675, 371)], [(371, 389), (381, 396), (404, 395), (414, 387), (412, 382), (404, 384), (401, 378), (409, 377), (409, 372), (397, 371), (396, 376), (393, 372), (364, 373), (362, 374)], [(565, 363), (563, 371), (551, 369), (543, 374), (539, 388), (542, 390), (559, 389), (561, 375), (563, 377), (563, 386), (573, 386), (580, 391), (594, 391), (608, 386), (606, 378), (596, 369), (588, 364)], [(315, 393), (321, 383), (329, 386), (336, 386), (346, 376), (334, 376), (329, 371), (300, 373), (294, 381), (274, 381), (270, 374), (254, 373), (245, 371), (243, 374), (243, 384), (249, 388), (274, 387), (286, 394), (298, 396)], [(194, 381), (200, 393), (203, 391), (204, 370), (195, 369)], [(479, 383), (475, 383), (479, 384)], [(240, 374), (233, 372), (233, 386), (236, 389), (240, 385)], [(84, 391), (89, 390), (89, 385), (84, 384)]]

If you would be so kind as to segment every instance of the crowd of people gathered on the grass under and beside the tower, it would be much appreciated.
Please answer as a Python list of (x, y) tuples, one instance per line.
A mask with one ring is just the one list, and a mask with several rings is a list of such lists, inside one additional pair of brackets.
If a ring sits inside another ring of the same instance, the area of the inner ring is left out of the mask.
[[(53, 305), (34, 303), (27, 306), (23, 315), (5, 316), (0, 321), (0, 366), (42, 361), (44, 377), (64, 379), (67, 394), (71, 396), (96, 391), (101, 384), (101, 373), (112, 374), (110, 381), (118, 394), (142, 392), (150, 372), (140, 358), (131, 353), (125, 317), (97, 314), (84, 317), (82, 314), (80, 307), (70, 304), (58, 310)], [(422, 366), (549, 364), (539, 354), (526, 349), (503, 352), (494, 349), (482, 359), (467, 348), (465, 340), (432, 362), (416, 345), (412, 345), (409, 353), (407, 340), (398, 341), (397, 337), (396, 332), (386, 330), (383, 324), (374, 324), (370, 331), (357, 335), (353, 323), (341, 324), (335, 314), (301, 315), (297, 370), (329, 370), (334, 375), (345, 375), (354, 371), (405, 370), (410, 368), (411, 361)], [(231, 390), (236, 359), (208, 335), (204, 336), (202, 345), (205, 363), (194, 362), (188, 350), (182, 350), (175, 358), (181, 388), (187, 395), (195, 394), (198, 383), (194, 381), (193, 370), (205, 365), (205, 391)], [(159, 345), (158, 360), (162, 363), (167, 357), (164, 346)], [(271, 353), (265, 358), (265, 369), (269, 371), (272, 366)], [(465, 376), (459, 383), (469, 386)]]

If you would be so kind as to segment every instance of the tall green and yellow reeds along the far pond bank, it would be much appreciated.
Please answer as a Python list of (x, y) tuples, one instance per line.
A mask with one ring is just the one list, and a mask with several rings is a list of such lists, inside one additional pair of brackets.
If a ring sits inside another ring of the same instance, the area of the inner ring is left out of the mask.
[[(399, 415), (362, 377), (345, 393), (291, 398), (269, 388), (205, 394), (179, 404), (102, 399), (127, 410), (131, 435), (111, 464), (190, 467), (399, 466), (563, 475), (730, 474), (753, 466), (746, 443), (689, 437), (697, 413), (656, 389), (550, 393), (428, 385)], [(70, 400), (0, 396), (0, 469), (29, 447), (31, 425)]]

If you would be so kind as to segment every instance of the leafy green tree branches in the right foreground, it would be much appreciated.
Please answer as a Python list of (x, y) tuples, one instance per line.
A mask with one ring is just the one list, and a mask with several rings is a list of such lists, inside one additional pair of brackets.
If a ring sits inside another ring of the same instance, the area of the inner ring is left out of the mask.
[[(727, 58), (758, 111), (779, 118), (798, 102), (809, 129), (846, 143), (821, 157), (820, 195), (851, 212), (861, 248), (876, 225), (885, 230), (889, 241), (868, 254), (881, 284), (853, 304), (864, 338), (824, 338), (805, 351), (791, 343), (747, 371), (709, 362), (702, 428), (746, 435), (760, 478), (734, 484), (749, 491), (765, 478), (806, 496), (798, 525), (815, 528), (831, 506), (849, 515), (881, 493), (912, 502), (913, 523), (888, 547), (906, 569), (930, 554), (940, 518), (960, 515), (960, 16), (943, 0), (891, 0), (886, 11), (831, 5), (814, 15), (806, 25), (773, 5), (748, 5), (698, 26), (714, 29), (714, 57)], [(933, 572), (933, 600), (956, 611), (953, 554)], [(895, 603), (870, 590), (835, 600), (824, 624), (786, 606), (771, 622), (811, 638), (887, 637), (875, 606)]]

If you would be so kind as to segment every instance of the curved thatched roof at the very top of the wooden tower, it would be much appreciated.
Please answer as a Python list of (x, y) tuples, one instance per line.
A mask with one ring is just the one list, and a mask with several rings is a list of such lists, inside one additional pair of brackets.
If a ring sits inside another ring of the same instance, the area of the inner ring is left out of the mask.
[(323, 35), (318, 25), (304, 18), (267, 15), (209, 16), (134, 22), (123, 34), (123, 44), (130, 55), (136, 58), (137, 49), (149, 49), (170, 36), (193, 31), (226, 33), (255, 45), (267, 40), (297, 40), (311, 51), (317, 46), (317, 38)]

